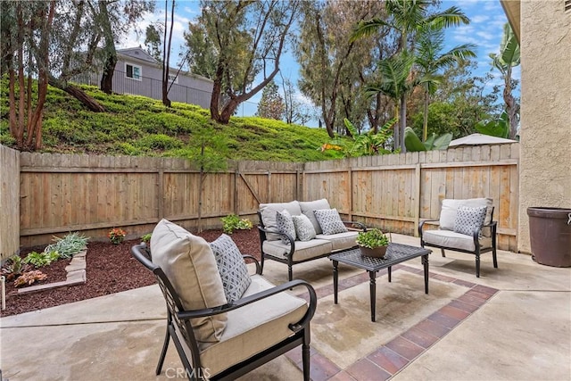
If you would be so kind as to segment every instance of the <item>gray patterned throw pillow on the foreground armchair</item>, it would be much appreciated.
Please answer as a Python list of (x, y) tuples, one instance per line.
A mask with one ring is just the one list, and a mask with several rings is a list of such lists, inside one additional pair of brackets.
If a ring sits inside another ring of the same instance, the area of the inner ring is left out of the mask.
[(252, 283), (242, 253), (232, 238), (223, 234), (210, 243), (218, 272), (222, 279), (224, 294), (229, 303), (242, 298), (244, 291)]

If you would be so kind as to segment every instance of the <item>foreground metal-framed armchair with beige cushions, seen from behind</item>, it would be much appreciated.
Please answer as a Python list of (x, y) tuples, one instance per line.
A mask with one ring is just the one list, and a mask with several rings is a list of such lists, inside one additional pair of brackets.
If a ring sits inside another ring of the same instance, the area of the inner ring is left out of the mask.
[[(233, 380), (302, 345), (303, 379), (310, 380), (313, 287), (302, 280), (274, 286), (259, 275), (258, 261), (244, 256), (256, 264), (250, 276), (241, 254), (236, 267), (239, 251), (228, 236), (208, 244), (165, 219), (154, 228), (150, 246), (134, 245), (131, 253), (153, 272), (167, 304), (157, 375), (172, 338), (190, 379)], [(245, 290), (233, 294), (227, 286), (242, 265)], [(298, 286), (307, 289), (309, 302), (288, 292)]]

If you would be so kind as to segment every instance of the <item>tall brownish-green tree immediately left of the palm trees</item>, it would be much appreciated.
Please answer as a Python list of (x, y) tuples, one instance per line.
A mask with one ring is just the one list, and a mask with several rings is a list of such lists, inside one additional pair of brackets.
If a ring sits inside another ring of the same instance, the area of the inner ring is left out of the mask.
[(363, 81), (374, 73), (370, 68), (378, 57), (377, 41), (372, 37), (350, 41), (350, 37), (355, 23), (380, 15), (383, 9), (382, 2), (304, 3), (294, 49), (300, 64), (298, 86), (303, 95), (319, 106), (330, 137), (342, 131), (351, 135), (343, 117), (360, 125), (369, 115), (369, 122), (379, 123), (376, 106), (362, 97)]

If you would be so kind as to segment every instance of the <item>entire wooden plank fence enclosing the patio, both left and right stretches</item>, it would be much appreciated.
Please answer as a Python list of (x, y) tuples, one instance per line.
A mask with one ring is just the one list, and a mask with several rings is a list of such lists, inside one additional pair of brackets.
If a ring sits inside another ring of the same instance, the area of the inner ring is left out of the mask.
[(499, 247), (515, 251), (518, 152), (513, 144), (330, 162), (230, 162), (227, 171), (205, 176), (202, 208), (200, 173), (186, 160), (19, 153), (21, 246), (70, 231), (105, 239), (114, 227), (134, 238), (161, 218), (195, 231), (199, 210), (202, 228), (219, 228), (231, 213), (256, 222), (259, 203), (324, 197), (346, 217), (416, 235), (419, 219), (438, 218), (443, 198), (489, 196)]

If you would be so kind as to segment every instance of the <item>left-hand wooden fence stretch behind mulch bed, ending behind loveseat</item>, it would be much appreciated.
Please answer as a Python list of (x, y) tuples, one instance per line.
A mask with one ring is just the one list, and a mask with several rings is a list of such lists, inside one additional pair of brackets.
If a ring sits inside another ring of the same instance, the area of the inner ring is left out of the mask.
[(219, 228), (220, 217), (255, 218), (258, 204), (298, 197), (302, 164), (236, 162), (203, 176), (190, 162), (137, 158), (21, 153), (21, 245), (81, 231), (104, 238), (111, 228), (128, 237), (153, 230), (161, 219), (185, 228)]

